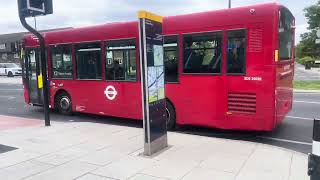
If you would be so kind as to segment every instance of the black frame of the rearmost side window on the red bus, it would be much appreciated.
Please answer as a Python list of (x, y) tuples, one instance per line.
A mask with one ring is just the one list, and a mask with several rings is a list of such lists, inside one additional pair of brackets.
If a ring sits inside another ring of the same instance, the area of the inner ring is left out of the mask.
[[(227, 56), (227, 46), (228, 46), (228, 32), (230, 31), (241, 31), (241, 30), (244, 30), (245, 31), (245, 53), (244, 53), (244, 73), (228, 73), (228, 56)], [(225, 43), (225, 47), (224, 47), (224, 50), (225, 50), (225, 54), (226, 54), (226, 58), (225, 58), (225, 73), (226, 73), (226, 76), (246, 76), (247, 75), (247, 49), (248, 49), (248, 28), (235, 28), (235, 29), (226, 29), (225, 30), (225, 38), (226, 38), (226, 43)]]

